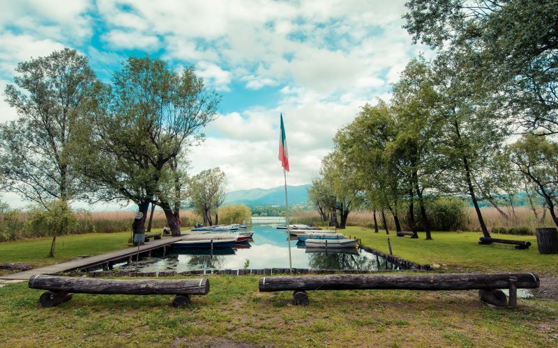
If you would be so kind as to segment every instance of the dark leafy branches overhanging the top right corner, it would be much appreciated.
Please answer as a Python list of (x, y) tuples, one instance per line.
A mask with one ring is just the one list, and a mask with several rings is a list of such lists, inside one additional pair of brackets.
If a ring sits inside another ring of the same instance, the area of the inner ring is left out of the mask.
[(558, 3), (553, 0), (410, 0), (405, 28), (435, 49), (468, 46), (473, 74), (521, 132), (558, 132)]

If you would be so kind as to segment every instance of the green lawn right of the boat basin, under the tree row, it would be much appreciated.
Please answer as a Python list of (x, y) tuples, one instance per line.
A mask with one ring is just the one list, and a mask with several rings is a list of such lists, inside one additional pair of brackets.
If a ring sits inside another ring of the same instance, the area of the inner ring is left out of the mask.
[(508, 244), (479, 245), (480, 232), (432, 232), (432, 240), (425, 240), (424, 232), (418, 233), (419, 239), (396, 237), (395, 231), (386, 236), (385, 231), (375, 233), (353, 226), (340, 232), (360, 238), (363, 245), (383, 253), (389, 253), (389, 237), (393, 255), (421, 264), (446, 264), (458, 271), (527, 271), (558, 275), (558, 255), (539, 254), (534, 236), (492, 236), (531, 242), (528, 249), (516, 250)]

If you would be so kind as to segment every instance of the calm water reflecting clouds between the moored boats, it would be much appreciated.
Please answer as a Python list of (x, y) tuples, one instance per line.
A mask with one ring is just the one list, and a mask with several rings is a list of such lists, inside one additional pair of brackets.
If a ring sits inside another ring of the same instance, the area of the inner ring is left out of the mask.
[[(287, 232), (276, 225), (252, 225), (253, 242), (248, 248), (232, 250), (172, 250), (163, 258), (140, 258), (138, 271), (193, 271), (199, 269), (248, 269), (289, 268)], [(383, 258), (363, 250), (352, 249), (342, 253), (310, 252), (297, 246), (297, 240), (289, 241), (293, 268), (303, 269), (397, 269)], [(373, 246), (372, 246), (373, 247)], [(135, 260), (134, 260), (135, 261)], [(135, 271), (136, 264), (115, 264), (123, 271)]]

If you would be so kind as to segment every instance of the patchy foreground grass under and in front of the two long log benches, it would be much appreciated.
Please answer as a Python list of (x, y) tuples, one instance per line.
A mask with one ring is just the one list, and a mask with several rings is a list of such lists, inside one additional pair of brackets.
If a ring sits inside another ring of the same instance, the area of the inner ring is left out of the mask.
[(172, 308), (172, 296), (75, 294), (38, 308), (40, 290), (0, 287), (0, 342), (6, 347), (76, 345), (556, 346), (557, 309), (519, 300), (518, 310), (487, 308), (474, 291), (260, 293), (257, 276), (211, 276), (207, 296)]

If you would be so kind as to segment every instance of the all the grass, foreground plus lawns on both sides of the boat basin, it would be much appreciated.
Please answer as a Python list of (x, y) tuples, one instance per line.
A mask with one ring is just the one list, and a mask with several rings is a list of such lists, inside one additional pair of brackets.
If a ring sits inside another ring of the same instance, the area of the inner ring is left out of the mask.
[[(385, 233), (350, 227), (346, 235), (387, 252)], [(534, 271), (558, 274), (558, 255), (480, 246), (477, 232), (434, 232), (434, 240), (390, 235), (395, 255), (443, 271)], [(0, 262), (50, 264), (126, 247), (129, 232), (62, 237), (54, 259), (50, 239), (0, 243)], [(511, 237), (511, 236), (506, 236)], [(186, 308), (171, 296), (75, 294), (38, 308), (40, 290), (0, 284), (0, 342), (6, 347), (197, 346), (541, 346), (558, 345), (558, 303), (520, 299), (518, 310), (488, 308), (476, 291), (392, 290), (310, 292), (310, 306), (291, 306), (291, 292), (260, 293), (257, 276), (210, 276), (208, 296)]]

